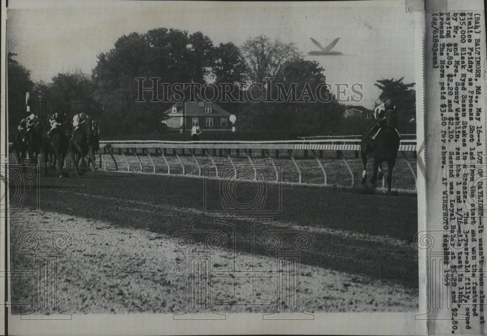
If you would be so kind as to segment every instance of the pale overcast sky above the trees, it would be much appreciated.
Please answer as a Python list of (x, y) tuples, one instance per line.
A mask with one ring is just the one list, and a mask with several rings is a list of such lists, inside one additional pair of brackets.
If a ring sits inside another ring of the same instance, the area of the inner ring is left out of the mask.
[[(366, 2), (366, 3), (364, 3)], [(373, 4), (377, 4), (372, 7)], [(294, 42), (305, 55), (318, 50), (310, 40), (345, 56), (307, 56), (325, 69), (329, 83), (363, 83), (372, 108), (377, 79), (414, 82), (414, 19), (403, 0), (338, 3), (246, 3), (162, 1), (9, 0), (8, 48), (32, 71), (34, 81), (96, 65), (122, 35), (158, 27), (201, 31), (215, 45), (261, 34)]]

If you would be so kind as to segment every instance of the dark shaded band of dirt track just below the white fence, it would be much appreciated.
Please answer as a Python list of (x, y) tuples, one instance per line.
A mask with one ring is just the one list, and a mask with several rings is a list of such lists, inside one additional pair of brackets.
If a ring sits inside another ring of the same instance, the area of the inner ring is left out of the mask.
[[(218, 180), (210, 187), (218, 188)], [(249, 187), (251, 188), (251, 187)], [(215, 189), (216, 190), (216, 189)], [(249, 189), (249, 192), (254, 192)], [(233, 229), (204, 212), (204, 181), (176, 176), (88, 172), (81, 177), (41, 177), (40, 207), (46, 211), (147, 229), (171, 237), (181, 229), (220, 229), (225, 248), (272, 256), (255, 243), (255, 221), (233, 219)], [(33, 202), (32, 196), (24, 200)], [(415, 195), (361, 195), (319, 187), (282, 187), (281, 213), (265, 229), (305, 227), (315, 245), (301, 262), (418, 287)], [(257, 214), (255, 214), (257, 215)], [(365, 237), (365, 238), (364, 238)], [(75, 237), (74, 237), (75, 239)]]

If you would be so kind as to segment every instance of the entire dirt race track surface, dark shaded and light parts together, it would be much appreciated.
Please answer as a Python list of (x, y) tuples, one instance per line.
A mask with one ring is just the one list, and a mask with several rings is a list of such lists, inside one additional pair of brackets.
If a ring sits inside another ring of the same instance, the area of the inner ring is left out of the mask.
[[(208, 180), (206, 190), (219, 190), (219, 183)], [(69, 232), (72, 245), (62, 252), (58, 270), (60, 306), (66, 312), (184, 312), (187, 256), (173, 243), (178, 230), (211, 228), (229, 237), (229, 227), (236, 230), (233, 245), (212, 255), (214, 270), (231, 271), (233, 249), (241, 267), (256, 263), (265, 267), (275, 258), (275, 252), (256, 245), (252, 227), (259, 219), (225, 220), (233, 226), (215, 223), (216, 215), (204, 211), (201, 178), (89, 171), (81, 177), (41, 177), (39, 187), (40, 210), (28, 215), (27, 224), (12, 226), (12, 268), (26, 269), (32, 264), (32, 257), (19, 246), (21, 232)], [(252, 193), (255, 186), (243, 188)], [(261, 225), (261, 231), (308, 230), (315, 237), (314, 246), (300, 256), (304, 311), (411, 311), (417, 307), (416, 195), (283, 185), (277, 201), (282, 205), (280, 213), (259, 213), (272, 217)], [(27, 193), (23, 206), (35, 204), (33, 194)], [(22, 222), (20, 217), (25, 215), (14, 214), (12, 220)], [(205, 238), (196, 236), (195, 242), (199, 245)], [(12, 283), (12, 293), (19, 298), (32, 294), (25, 281)], [(266, 297), (272, 283), (261, 285), (256, 295)], [(219, 286), (215, 285), (215, 298), (224, 299), (228, 283)], [(221, 309), (272, 311), (252, 305)]]

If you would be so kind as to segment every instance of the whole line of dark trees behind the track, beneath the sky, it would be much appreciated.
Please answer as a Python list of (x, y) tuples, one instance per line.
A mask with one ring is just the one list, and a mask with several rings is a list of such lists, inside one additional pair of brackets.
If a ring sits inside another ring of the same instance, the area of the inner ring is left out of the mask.
[[(282, 83), (289, 87), (297, 83), (298, 92), (306, 85), (315, 90), (326, 83), (325, 69), (301, 55), (294, 43), (263, 35), (248, 38), (241, 46), (232, 42), (214, 45), (201, 32), (190, 34), (157, 28), (118, 38), (109, 52), (97, 55), (91, 74), (78, 70), (58, 74), (48, 83), (34, 83), (30, 71), (15, 60), (15, 54), (9, 53), (9, 130), (12, 134), (24, 117), (25, 92), (31, 92), (31, 100), (45, 101), (49, 113), (93, 115), (102, 127), (102, 135), (149, 134), (156, 130), (164, 118), (163, 112), (172, 103), (136, 102), (135, 78), (158, 77), (165, 83), (262, 83), (265, 86), (265, 78), (273, 77), (275, 81), (271, 85)], [(378, 80), (376, 85), (382, 91), (379, 99), (392, 97), (405, 119), (414, 116), (414, 83), (405, 84), (400, 78)], [(237, 115), (240, 131), (327, 134), (337, 132), (348, 121), (343, 119), (346, 105), (339, 103), (333, 93), (325, 93), (331, 97), (326, 102), (247, 101), (220, 105)]]

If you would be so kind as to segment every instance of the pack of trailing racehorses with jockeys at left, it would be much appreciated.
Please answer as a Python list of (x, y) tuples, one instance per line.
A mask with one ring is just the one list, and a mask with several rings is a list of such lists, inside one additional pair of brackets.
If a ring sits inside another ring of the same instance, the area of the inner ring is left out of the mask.
[[(79, 176), (79, 163), (85, 161), (88, 165), (95, 165), (94, 153), (99, 151), (98, 128), (94, 127), (94, 120), (90, 117), (78, 126), (74, 131), (71, 123), (66, 120), (62, 126), (56, 127), (47, 137), (48, 131), (42, 131), (42, 124), (39, 122), (28, 128), (23, 136), (17, 134), (13, 140), (13, 147), (17, 153), (19, 162), (28, 154), (31, 163), (37, 164), (38, 155), (42, 153), (44, 158), (44, 175), (49, 176), (49, 168), (56, 168), (59, 177), (64, 176), (63, 168), (68, 151), (75, 167), (75, 174)], [(101, 154), (99, 167), (101, 168)]]

